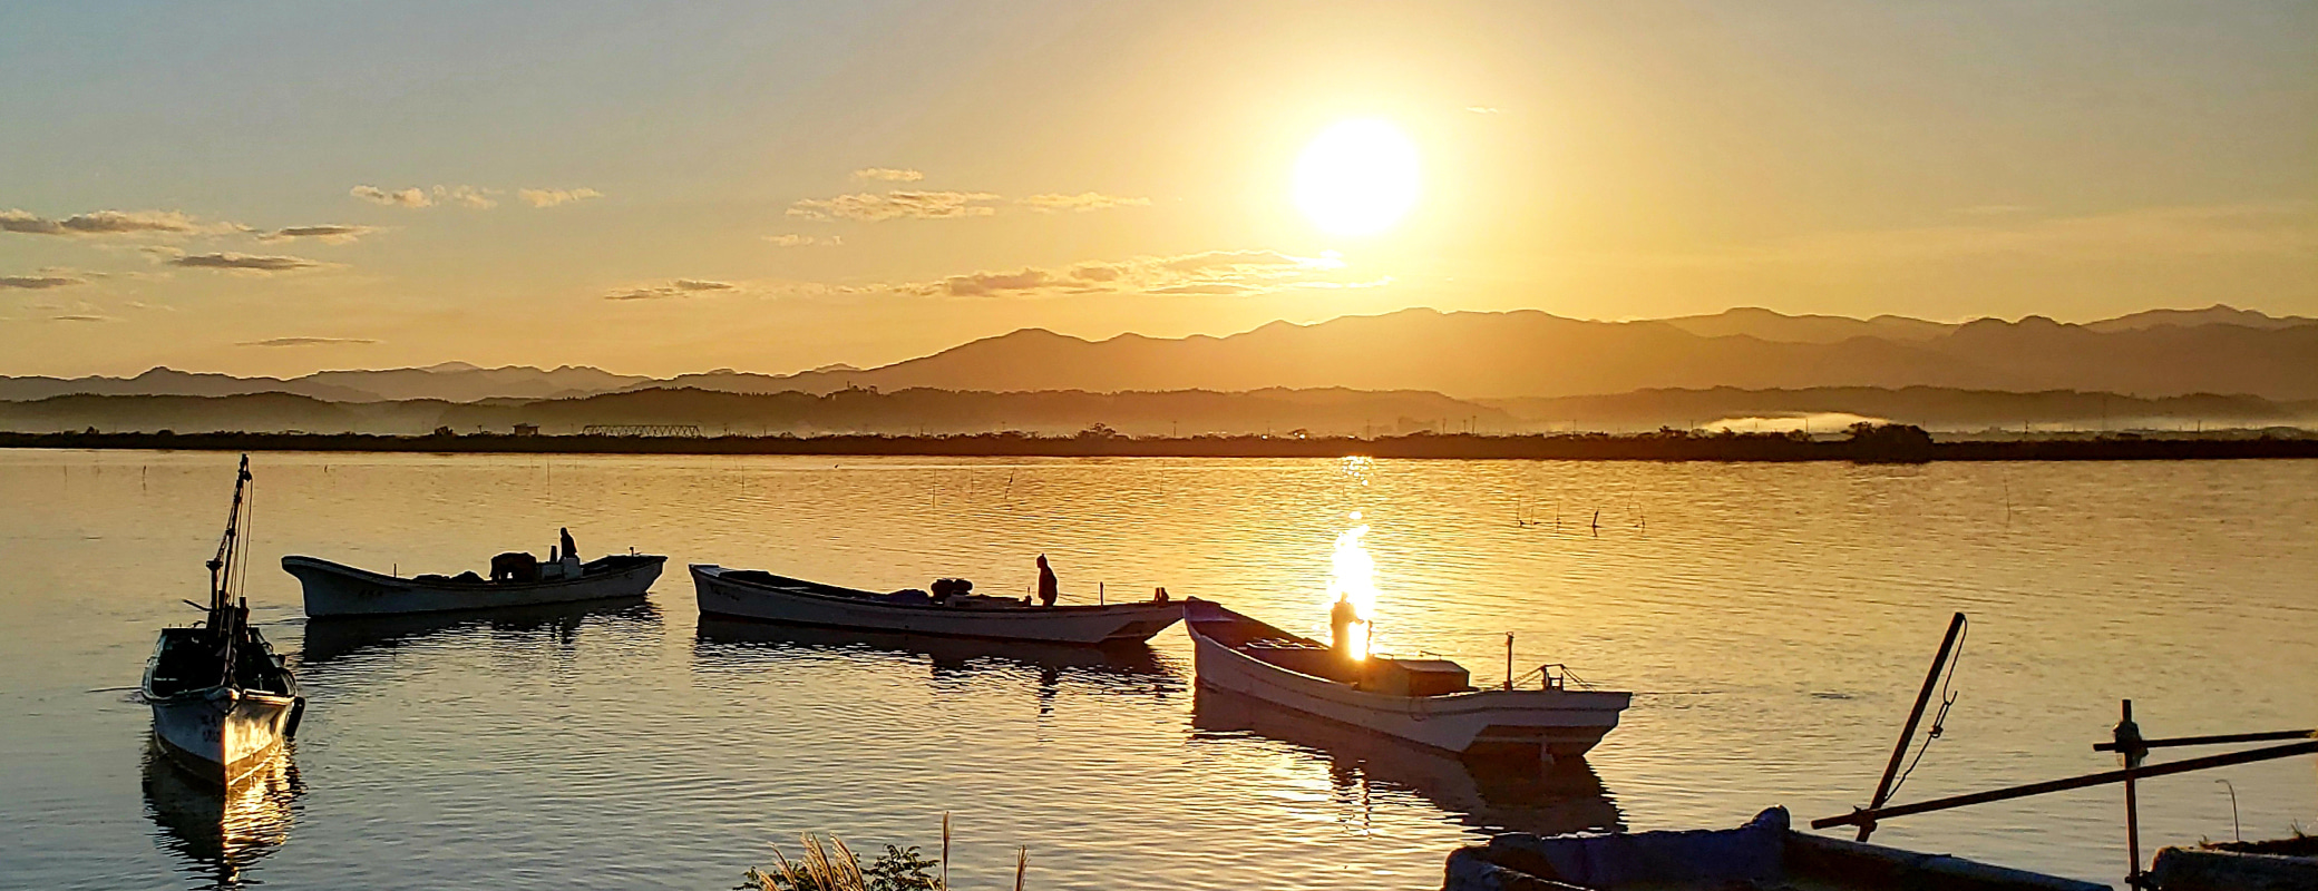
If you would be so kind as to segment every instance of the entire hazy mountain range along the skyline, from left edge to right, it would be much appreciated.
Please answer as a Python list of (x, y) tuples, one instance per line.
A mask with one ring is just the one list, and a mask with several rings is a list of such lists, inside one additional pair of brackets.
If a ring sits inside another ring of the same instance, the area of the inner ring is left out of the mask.
[(137, 377), (0, 377), (0, 400), (51, 396), (292, 393), (329, 403), (542, 400), (644, 389), (834, 393), (948, 391), (1428, 391), (1458, 400), (1537, 400), (1646, 389), (1959, 389), (2318, 398), (2318, 319), (2214, 305), (2091, 324), (2047, 317), (1961, 324), (1850, 319), (1741, 308), (1641, 322), (1537, 310), (1400, 310), (1317, 324), (1273, 322), (1233, 336), (1108, 340), (1022, 329), (879, 368), (795, 375), (712, 370), (654, 380), (586, 366), (325, 370), (229, 377), (153, 368)]

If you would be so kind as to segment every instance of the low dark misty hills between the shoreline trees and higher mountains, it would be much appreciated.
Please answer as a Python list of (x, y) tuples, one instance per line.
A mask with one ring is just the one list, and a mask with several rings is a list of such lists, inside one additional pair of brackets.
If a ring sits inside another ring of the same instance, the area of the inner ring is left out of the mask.
[(1419, 391), (1268, 389), (1249, 393), (976, 393), (943, 389), (837, 393), (723, 393), (647, 389), (554, 400), (331, 403), (292, 393), (248, 396), (53, 396), (0, 403), (0, 430), (23, 433), (584, 433), (589, 426), (695, 426), (700, 433), (1078, 433), (1094, 424), (1129, 435), (1270, 433), (1646, 433), (1662, 426), (1836, 433), (1854, 419), (1931, 430), (2195, 430), (2318, 426), (2318, 403), (2255, 396), (2130, 398), (2114, 393), (2000, 393), (1956, 389), (1634, 391), (1525, 400), (1456, 400)]

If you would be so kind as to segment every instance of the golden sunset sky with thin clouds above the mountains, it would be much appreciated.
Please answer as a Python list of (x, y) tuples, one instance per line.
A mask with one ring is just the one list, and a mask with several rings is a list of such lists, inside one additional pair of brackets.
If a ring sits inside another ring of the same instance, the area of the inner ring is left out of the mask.
[(0, 74), (7, 375), (2318, 315), (2313, 2), (14, 2)]

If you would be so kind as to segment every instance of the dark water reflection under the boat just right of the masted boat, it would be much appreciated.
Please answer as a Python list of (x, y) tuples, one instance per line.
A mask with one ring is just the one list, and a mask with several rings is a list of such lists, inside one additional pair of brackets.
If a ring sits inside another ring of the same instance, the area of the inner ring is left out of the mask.
[(387, 650), (466, 627), (489, 629), (494, 639), (529, 639), (552, 634), (559, 646), (573, 646), (589, 620), (658, 625), (661, 611), (644, 597), (591, 599), (584, 604), (501, 606), (464, 613), (417, 616), (325, 616), (306, 620), (301, 667), (322, 667), (366, 650)]

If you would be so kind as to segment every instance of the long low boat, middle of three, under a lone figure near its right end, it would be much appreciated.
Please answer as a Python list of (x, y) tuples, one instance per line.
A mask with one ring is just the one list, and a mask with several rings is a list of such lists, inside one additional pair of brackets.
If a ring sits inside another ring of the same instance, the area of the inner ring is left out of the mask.
[(971, 592), (936, 599), (923, 590), (885, 595), (698, 562), (693, 588), (702, 616), (1001, 641), (1136, 643), (1182, 618), (1182, 604), (1168, 599), (1103, 606), (1029, 606)]

